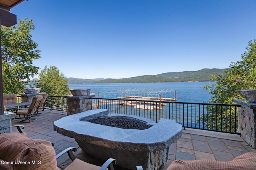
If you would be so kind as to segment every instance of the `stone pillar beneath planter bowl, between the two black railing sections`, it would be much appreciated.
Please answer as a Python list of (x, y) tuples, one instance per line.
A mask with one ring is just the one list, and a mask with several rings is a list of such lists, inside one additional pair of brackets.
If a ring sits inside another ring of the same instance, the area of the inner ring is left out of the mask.
[(76, 113), (84, 112), (92, 109), (92, 97), (95, 94), (88, 96), (64, 96), (68, 100), (68, 113), (67, 115), (73, 115)]

